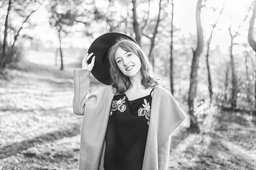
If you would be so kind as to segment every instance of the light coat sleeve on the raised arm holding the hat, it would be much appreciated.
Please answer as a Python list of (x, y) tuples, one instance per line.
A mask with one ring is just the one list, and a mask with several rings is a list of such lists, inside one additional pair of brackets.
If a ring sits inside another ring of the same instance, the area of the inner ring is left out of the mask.
[(84, 115), (84, 106), (89, 97), (90, 71), (74, 70), (74, 97), (73, 112), (76, 115)]

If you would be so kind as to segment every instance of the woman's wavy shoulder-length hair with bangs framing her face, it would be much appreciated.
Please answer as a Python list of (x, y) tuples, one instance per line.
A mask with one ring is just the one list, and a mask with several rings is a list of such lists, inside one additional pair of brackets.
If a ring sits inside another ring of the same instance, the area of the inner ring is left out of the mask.
[(117, 48), (122, 48), (124, 51), (132, 52), (140, 58), (141, 62), (141, 84), (146, 88), (153, 88), (155, 85), (160, 85), (163, 81), (154, 71), (148, 56), (142, 48), (131, 40), (120, 38), (117, 42), (109, 49), (108, 59), (110, 61), (110, 75), (111, 85), (116, 88), (118, 94), (123, 94), (130, 87), (131, 81), (128, 76), (125, 76), (117, 66), (115, 55)]

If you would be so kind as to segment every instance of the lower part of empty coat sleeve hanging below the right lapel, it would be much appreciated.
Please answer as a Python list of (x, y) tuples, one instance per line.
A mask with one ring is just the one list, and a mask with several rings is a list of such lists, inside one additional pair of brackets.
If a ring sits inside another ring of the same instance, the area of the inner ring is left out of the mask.
[(171, 135), (158, 147), (158, 170), (168, 170)]

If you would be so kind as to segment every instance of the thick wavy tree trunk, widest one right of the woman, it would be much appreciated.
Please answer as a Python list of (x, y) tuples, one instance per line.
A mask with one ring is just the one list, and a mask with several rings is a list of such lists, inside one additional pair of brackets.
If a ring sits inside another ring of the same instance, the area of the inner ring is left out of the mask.
[(195, 21), (198, 34), (198, 43), (197, 48), (193, 51), (193, 59), (191, 65), (191, 74), (190, 74), (190, 86), (189, 86), (189, 116), (190, 116), (190, 128), (196, 131), (199, 131), (198, 120), (194, 114), (194, 99), (196, 97), (196, 84), (197, 84), (197, 71), (198, 71), (198, 62), (199, 57), (204, 48), (204, 37), (203, 37), (203, 28), (201, 24), (201, 7), (202, 0), (198, 0), (196, 10), (195, 10)]

